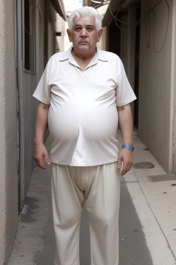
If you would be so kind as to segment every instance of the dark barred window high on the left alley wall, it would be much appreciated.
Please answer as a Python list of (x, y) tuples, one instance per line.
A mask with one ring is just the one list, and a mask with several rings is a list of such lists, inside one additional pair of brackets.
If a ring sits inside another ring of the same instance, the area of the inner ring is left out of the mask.
[(24, 68), (34, 72), (34, 1), (24, 0)]

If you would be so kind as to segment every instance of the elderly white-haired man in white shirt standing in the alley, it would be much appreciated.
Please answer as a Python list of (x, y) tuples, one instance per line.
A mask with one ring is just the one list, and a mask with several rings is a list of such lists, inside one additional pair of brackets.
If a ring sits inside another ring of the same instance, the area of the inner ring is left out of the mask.
[[(136, 97), (119, 57), (96, 46), (102, 35), (98, 12), (79, 8), (68, 25), (73, 45), (50, 58), (34, 92), (40, 101), (34, 159), (43, 169), (43, 159), (51, 161), (54, 264), (80, 264), (80, 218), (86, 199), (91, 265), (117, 265), (120, 173), (133, 163), (129, 103)], [(50, 160), (43, 144), (47, 126)]]

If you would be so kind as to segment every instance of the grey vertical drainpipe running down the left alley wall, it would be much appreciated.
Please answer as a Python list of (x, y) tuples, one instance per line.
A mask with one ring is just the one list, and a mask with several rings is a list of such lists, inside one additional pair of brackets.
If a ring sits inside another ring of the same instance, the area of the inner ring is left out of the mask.
[(23, 93), (22, 0), (17, 0), (17, 89), (19, 96), (19, 208), (25, 202), (25, 113)]

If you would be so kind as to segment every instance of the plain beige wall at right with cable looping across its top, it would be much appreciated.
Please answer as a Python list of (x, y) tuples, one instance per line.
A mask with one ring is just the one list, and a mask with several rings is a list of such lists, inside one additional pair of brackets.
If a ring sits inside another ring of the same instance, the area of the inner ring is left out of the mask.
[(173, 100), (170, 76), (173, 1), (168, 0), (170, 18), (167, 35), (166, 1), (159, 3), (154, 12), (147, 13), (154, 4), (155, 0), (141, 1), (139, 135), (165, 170), (172, 172), (173, 119), (170, 113), (173, 111)]

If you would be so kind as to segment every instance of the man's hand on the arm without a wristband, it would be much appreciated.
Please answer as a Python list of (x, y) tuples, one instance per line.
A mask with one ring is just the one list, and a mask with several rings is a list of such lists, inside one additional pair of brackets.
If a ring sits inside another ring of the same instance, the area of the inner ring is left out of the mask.
[(44, 144), (35, 144), (34, 147), (34, 160), (36, 161), (37, 166), (40, 168), (46, 169), (43, 164), (43, 158), (47, 165), (50, 165), (50, 159), (48, 157), (47, 149)]

